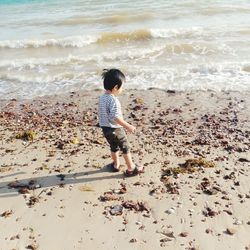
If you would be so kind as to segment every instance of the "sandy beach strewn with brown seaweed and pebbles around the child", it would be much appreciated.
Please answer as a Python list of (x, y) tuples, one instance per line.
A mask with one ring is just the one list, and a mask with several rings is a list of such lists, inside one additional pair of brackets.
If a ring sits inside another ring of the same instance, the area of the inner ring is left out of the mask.
[(0, 249), (250, 249), (250, 92), (125, 91), (131, 178), (101, 93), (0, 100)]

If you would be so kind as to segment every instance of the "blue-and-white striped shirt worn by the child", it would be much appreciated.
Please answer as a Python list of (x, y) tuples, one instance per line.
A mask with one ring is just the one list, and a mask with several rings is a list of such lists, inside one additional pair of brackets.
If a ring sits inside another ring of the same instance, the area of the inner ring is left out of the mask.
[(114, 119), (122, 118), (121, 104), (112, 94), (103, 94), (99, 98), (98, 118), (100, 127), (121, 128)]

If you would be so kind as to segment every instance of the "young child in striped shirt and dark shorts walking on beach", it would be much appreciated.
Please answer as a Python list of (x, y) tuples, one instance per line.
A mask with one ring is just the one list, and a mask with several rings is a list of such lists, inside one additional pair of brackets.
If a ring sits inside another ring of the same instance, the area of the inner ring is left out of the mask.
[(124, 129), (133, 133), (135, 127), (123, 119), (121, 104), (117, 98), (122, 93), (124, 74), (118, 69), (104, 70), (102, 73), (105, 93), (100, 96), (98, 116), (99, 125), (107, 139), (110, 149), (112, 170), (118, 172), (120, 168), (119, 150), (122, 151), (127, 170), (126, 176), (134, 176), (144, 172), (144, 167), (136, 166), (130, 154), (130, 146)]

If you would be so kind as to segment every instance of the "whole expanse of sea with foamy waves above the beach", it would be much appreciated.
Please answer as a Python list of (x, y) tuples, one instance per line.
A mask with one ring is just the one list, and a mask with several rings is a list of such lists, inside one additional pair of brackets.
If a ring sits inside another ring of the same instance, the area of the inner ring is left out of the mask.
[(250, 1), (0, 0), (0, 98), (102, 88), (250, 90)]

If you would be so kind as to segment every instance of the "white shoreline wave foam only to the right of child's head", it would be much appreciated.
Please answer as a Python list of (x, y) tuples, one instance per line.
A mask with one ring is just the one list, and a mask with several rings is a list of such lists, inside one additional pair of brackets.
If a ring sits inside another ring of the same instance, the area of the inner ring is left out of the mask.
[[(247, 63), (249, 65), (249, 62)], [(183, 67), (147, 68), (131, 67), (134, 74), (127, 72), (128, 88), (161, 88), (180, 91), (232, 90), (249, 91), (249, 72), (244, 65), (234, 63), (201, 64)], [(142, 87), (143, 86), (143, 87)]]

